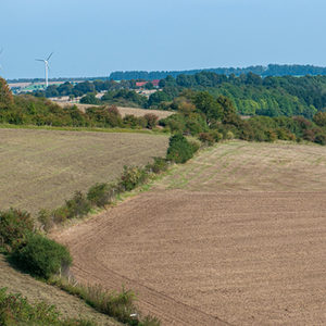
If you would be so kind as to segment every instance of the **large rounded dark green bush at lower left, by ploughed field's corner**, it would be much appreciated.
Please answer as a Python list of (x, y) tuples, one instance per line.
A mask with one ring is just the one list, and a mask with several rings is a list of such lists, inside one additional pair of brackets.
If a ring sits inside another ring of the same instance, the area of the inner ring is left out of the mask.
[(46, 279), (72, 263), (64, 246), (37, 234), (30, 234), (26, 244), (13, 251), (11, 260), (20, 268)]

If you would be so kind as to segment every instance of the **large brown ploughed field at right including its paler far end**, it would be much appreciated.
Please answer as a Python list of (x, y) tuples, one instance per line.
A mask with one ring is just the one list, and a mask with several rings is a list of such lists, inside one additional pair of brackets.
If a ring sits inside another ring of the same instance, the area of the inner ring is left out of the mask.
[(52, 236), (163, 325), (326, 323), (326, 148), (230, 141)]

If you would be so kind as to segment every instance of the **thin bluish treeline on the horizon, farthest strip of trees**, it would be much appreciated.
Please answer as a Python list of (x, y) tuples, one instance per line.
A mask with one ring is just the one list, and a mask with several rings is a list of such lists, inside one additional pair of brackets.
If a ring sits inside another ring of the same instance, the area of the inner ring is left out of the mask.
[(236, 75), (253, 73), (260, 76), (305, 76), (305, 75), (326, 75), (326, 67), (319, 67), (314, 65), (300, 65), (300, 64), (268, 64), (267, 66), (254, 65), (248, 67), (217, 67), (217, 68), (204, 68), (204, 70), (191, 70), (191, 71), (171, 71), (171, 72), (143, 72), (143, 71), (130, 71), (130, 72), (113, 72), (110, 75), (110, 79), (113, 80), (129, 80), (129, 79), (162, 79), (166, 76), (173, 76), (176, 78), (178, 75), (195, 75), (200, 72), (211, 72), (218, 75)]

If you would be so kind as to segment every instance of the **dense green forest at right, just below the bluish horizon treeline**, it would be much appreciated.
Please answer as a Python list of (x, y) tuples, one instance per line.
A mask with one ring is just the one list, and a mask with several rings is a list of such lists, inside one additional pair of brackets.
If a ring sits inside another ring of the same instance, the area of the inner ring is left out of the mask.
[(312, 118), (326, 108), (326, 76), (262, 78), (252, 73), (237, 77), (202, 72), (176, 78), (167, 76), (160, 85), (162, 90), (149, 98), (149, 105), (161, 109), (173, 109), (174, 98), (185, 89), (226, 96), (242, 115), (303, 115)]

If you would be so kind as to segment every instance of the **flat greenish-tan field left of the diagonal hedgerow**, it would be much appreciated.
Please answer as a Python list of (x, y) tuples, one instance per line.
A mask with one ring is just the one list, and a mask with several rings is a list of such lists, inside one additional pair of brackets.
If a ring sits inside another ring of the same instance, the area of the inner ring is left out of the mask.
[(74, 191), (114, 180), (124, 165), (164, 156), (168, 137), (0, 129), (0, 209), (53, 209)]

